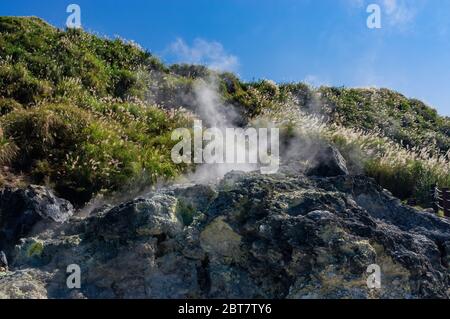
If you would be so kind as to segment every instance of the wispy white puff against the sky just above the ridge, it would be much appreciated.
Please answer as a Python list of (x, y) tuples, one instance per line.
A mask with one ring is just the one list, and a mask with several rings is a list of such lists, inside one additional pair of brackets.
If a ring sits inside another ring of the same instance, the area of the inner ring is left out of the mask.
[(189, 46), (178, 38), (168, 49), (178, 63), (202, 64), (218, 71), (237, 71), (239, 60), (228, 54), (222, 44), (216, 41), (195, 39)]

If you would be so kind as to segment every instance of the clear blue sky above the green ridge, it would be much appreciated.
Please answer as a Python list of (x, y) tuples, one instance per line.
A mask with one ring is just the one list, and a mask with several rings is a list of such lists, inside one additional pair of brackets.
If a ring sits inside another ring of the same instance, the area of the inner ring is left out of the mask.
[[(245, 80), (388, 87), (450, 115), (450, 0), (1, 0), (0, 15), (134, 40), (166, 62), (197, 62)], [(381, 29), (369, 29), (369, 4)]]

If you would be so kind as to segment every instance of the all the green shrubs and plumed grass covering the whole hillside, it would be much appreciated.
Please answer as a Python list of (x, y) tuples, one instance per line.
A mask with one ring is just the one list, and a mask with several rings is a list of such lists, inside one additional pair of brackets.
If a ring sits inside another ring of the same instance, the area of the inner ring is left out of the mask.
[(0, 182), (46, 183), (82, 204), (176, 177), (189, 168), (171, 161), (170, 134), (190, 126), (193, 86), (212, 76), (242, 115), (237, 125), (278, 118), (291, 138), (335, 143), (355, 170), (423, 205), (433, 183), (450, 185), (450, 120), (420, 101), (386, 89), (243, 83), (166, 66), (121, 39), (13, 17), (0, 17)]

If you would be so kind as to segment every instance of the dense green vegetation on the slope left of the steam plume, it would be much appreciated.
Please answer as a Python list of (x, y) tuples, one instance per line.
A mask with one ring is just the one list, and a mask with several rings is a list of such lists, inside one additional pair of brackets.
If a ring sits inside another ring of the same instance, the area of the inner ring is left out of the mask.
[(170, 134), (189, 116), (142, 102), (140, 73), (164, 71), (156, 58), (37, 18), (0, 18), (0, 32), (0, 159), (13, 174), (83, 203), (180, 173)]

